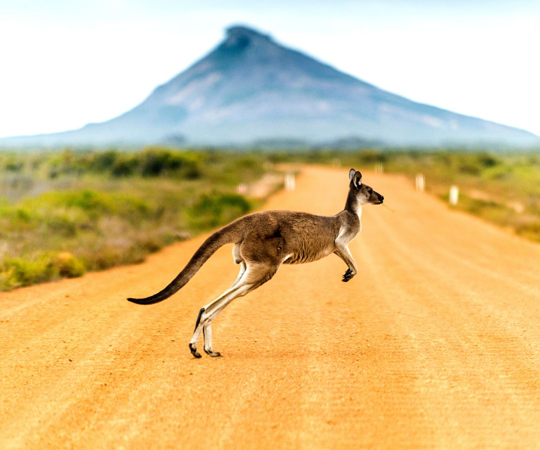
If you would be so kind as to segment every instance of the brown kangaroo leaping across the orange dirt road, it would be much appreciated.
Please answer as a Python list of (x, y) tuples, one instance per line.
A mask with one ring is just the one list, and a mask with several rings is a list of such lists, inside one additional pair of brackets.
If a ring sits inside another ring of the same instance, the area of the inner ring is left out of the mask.
[(261, 211), (234, 220), (208, 237), (171, 283), (146, 298), (129, 298), (138, 305), (151, 305), (171, 297), (183, 287), (219, 247), (233, 243), (233, 258), (240, 273), (233, 285), (217, 299), (203, 306), (189, 348), (195, 358), (201, 331), (204, 351), (220, 357), (212, 348), (212, 321), (237, 297), (254, 291), (271, 279), (281, 264), (310, 263), (335, 253), (347, 271), (342, 281), (350, 281), (358, 272), (348, 244), (361, 230), (362, 205), (380, 205), (383, 196), (362, 184), (359, 171), (349, 171), (349, 193), (345, 209), (334, 216), (316, 216), (295, 211)]

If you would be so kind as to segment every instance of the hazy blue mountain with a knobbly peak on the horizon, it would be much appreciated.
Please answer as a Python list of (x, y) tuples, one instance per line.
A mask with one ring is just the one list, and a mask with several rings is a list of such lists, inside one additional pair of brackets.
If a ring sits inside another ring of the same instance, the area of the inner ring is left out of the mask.
[(119, 117), (79, 130), (0, 139), (3, 146), (290, 142), (531, 146), (540, 138), (412, 102), (233, 26), (208, 55)]

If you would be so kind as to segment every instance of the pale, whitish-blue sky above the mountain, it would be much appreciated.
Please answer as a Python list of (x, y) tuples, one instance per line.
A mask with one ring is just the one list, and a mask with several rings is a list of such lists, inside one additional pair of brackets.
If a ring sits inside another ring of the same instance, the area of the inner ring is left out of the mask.
[(235, 24), (416, 102), (540, 135), (538, 0), (0, 0), (0, 137), (116, 117)]

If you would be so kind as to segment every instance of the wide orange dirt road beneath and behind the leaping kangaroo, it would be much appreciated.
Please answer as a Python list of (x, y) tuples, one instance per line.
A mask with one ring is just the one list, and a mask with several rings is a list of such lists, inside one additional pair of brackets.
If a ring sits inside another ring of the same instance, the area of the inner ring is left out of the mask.
[[(347, 170), (307, 168), (267, 209), (333, 214)], [(540, 246), (364, 174), (342, 283), (335, 256), (284, 266), (214, 321), (224, 358), (192, 358), (199, 308), (237, 275), (221, 248), (172, 298), (204, 237), (138, 266), (0, 294), (0, 448), (540, 446)], [(199, 345), (200, 347), (202, 344)]]

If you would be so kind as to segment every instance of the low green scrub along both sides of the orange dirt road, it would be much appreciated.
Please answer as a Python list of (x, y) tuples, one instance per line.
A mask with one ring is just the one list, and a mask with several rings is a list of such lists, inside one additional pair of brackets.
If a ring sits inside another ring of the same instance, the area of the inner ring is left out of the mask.
[(413, 184), (423, 173), (426, 191), (445, 202), (450, 186), (459, 187), (449, 207), (540, 242), (538, 152), (0, 153), (0, 291), (143, 261), (258, 207), (261, 199), (237, 186), (296, 162), (401, 173)]

